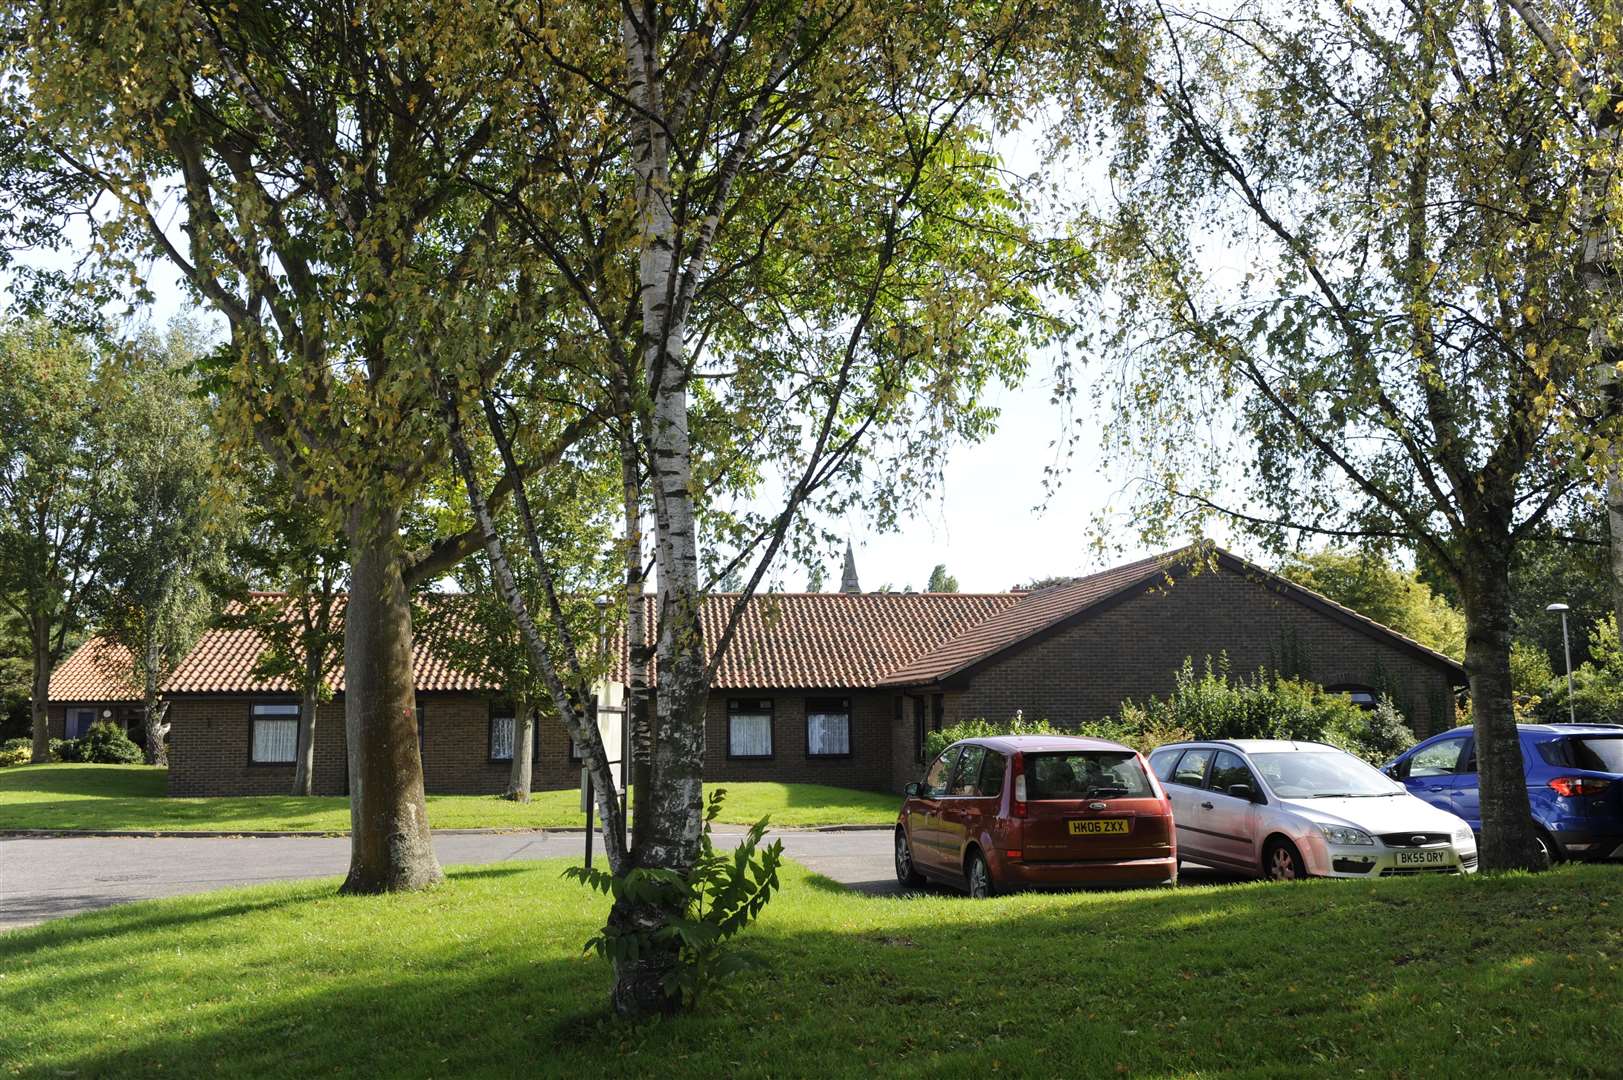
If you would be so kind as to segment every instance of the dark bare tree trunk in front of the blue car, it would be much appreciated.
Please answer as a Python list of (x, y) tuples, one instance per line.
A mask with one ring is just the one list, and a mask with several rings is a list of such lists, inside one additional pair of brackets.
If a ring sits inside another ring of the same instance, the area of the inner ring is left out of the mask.
[(1477, 736), (1482, 794), (1482, 869), (1543, 867), (1527, 801), (1511, 690), (1509, 546), (1474, 552), (1461, 599), (1466, 607), (1466, 677)]

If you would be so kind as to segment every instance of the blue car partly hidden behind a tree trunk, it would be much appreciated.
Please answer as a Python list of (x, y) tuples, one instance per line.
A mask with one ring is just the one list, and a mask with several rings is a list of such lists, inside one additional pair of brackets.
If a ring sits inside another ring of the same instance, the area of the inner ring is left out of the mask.
[[(1623, 858), (1623, 726), (1518, 724), (1539, 843), (1555, 859)], [(1470, 728), (1431, 736), (1381, 771), (1482, 835)]]

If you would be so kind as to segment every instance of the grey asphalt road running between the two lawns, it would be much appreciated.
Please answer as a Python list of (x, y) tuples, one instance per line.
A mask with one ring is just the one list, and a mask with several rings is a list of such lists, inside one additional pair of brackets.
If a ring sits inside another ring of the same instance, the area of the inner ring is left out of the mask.
[[(777, 832), (784, 854), (865, 893), (898, 892), (891, 833)], [(743, 832), (717, 832), (735, 845)], [(581, 833), (435, 833), (441, 866), (579, 858)], [(599, 858), (602, 854), (599, 853)], [(131, 900), (342, 875), (346, 836), (0, 838), (0, 931)], [(1185, 866), (1190, 885), (1233, 880)]]

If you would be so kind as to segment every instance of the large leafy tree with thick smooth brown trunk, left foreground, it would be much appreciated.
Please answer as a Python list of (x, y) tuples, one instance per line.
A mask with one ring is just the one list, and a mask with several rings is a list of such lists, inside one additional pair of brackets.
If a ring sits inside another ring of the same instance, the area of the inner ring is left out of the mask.
[[(505, 97), (531, 55), (513, 11), (34, 0), (3, 16), (0, 128), (23, 133), (13, 158), (49, 169), (37, 213), (93, 231), (88, 270), (123, 270), (140, 289), (144, 260), (167, 260), (224, 317), (229, 343), (211, 357), (222, 430), (256, 443), (346, 536), (344, 890), (438, 882), (409, 593), (477, 536), (412, 528), (443, 455), (415, 346), (427, 297), (485, 235), (471, 174), (527, 133)], [(506, 190), (523, 175), (482, 179)]]

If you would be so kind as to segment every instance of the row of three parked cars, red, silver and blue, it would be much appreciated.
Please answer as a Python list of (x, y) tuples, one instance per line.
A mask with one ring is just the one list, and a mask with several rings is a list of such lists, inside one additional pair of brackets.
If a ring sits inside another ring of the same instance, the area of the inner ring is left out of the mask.
[[(1623, 728), (1522, 724), (1550, 859), (1623, 858)], [(1482, 830), (1469, 728), (1376, 770), (1321, 742), (1222, 739), (1151, 752), (1104, 739), (949, 745), (896, 822), (896, 877), (990, 896), (1173, 883), (1182, 859), (1279, 880), (1470, 874)]]

